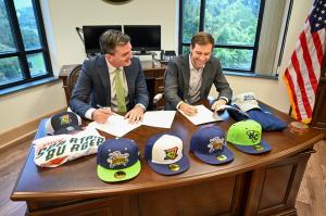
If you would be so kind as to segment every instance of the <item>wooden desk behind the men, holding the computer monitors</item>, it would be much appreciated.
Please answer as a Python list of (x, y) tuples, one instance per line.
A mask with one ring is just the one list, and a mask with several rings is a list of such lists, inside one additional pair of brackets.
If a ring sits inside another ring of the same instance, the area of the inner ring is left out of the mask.
[[(65, 92), (65, 99), (66, 103), (70, 103), (70, 92), (67, 89), (66, 85), (66, 79), (70, 74), (70, 72), (76, 67), (79, 64), (70, 64), (70, 65), (63, 65), (61, 67), (61, 71), (59, 73), (59, 77), (62, 80), (62, 88), (64, 89)], [(153, 98), (158, 93), (162, 93), (164, 91), (164, 72), (166, 69), (166, 65), (161, 65), (160, 62), (158, 62), (155, 65), (152, 63), (152, 61), (142, 61), (141, 66), (143, 69), (145, 78), (146, 78), (146, 84), (147, 84), (147, 89), (149, 92), (149, 110), (154, 109), (153, 107)]]

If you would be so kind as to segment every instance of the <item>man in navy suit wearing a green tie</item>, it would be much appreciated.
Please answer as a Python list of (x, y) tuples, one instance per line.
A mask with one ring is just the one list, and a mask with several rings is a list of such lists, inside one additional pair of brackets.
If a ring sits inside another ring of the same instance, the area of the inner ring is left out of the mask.
[(140, 61), (131, 54), (129, 36), (106, 30), (100, 37), (100, 47), (104, 54), (84, 62), (70, 107), (98, 123), (104, 123), (114, 112), (127, 111), (126, 118), (139, 122), (149, 97)]

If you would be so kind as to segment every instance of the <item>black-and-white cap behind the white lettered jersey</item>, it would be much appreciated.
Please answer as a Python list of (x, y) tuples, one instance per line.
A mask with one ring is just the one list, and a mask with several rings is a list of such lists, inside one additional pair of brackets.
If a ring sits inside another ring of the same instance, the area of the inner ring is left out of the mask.
[(46, 131), (50, 135), (72, 134), (83, 130), (82, 118), (73, 112), (62, 112), (51, 116), (46, 123)]

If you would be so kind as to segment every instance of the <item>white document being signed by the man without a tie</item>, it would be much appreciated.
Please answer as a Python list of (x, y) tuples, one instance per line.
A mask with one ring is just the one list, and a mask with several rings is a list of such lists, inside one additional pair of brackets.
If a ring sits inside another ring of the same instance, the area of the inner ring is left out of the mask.
[(179, 111), (186, 118), (188, 118), (193, 125), (201, 125), (205, 123), (213, 123), (223, 120), (222, 117), (214, 114), (204, 105), (196, 105), (197, 114), (195, 116), (188, 116), (183, 111)]

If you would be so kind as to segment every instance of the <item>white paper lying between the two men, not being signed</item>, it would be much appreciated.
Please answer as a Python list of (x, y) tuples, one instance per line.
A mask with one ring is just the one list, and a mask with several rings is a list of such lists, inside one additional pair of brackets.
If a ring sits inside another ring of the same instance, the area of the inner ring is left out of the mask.
[(175, 111), (148, 111), (143, 114), (141, 125), (171, 128)]

